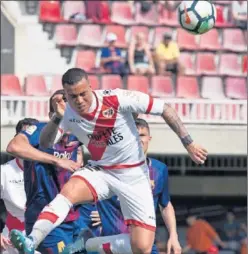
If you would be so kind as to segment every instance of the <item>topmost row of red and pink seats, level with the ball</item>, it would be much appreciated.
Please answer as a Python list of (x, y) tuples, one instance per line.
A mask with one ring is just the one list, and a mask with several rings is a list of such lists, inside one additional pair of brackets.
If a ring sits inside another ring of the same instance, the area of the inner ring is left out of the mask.
[[(112, 15), (110, 14), (110, 9)], [(230, 26), (225, 19), (225, 6), (216, 5), (217, 26)], [(134, 10), (131, 5), (125, 1), (114, 1), (111, 8), (104, 2), (104, 10), (111, 17), (100, 20), (103, 23), (116, 23), (122, 25), (144, 24), (150, 26), (168, 25), (178, 26), (177, 11), (168, 11), (161, 4), (153, 4), (152, 8), (145, 14), (141, 12), (140, 3), (136, 3)], [(64, 1), (63, 14), (59, 1), (40, 1), (39, 19), (42, 22), (60, 23), (69, 21), (69, 18), (75, 13), (86, 16), (85, 5), (83, 1)], [(105, 22), (104, 22), (105, 21)], [(78, 21), (76, 21), (78, 22)]]

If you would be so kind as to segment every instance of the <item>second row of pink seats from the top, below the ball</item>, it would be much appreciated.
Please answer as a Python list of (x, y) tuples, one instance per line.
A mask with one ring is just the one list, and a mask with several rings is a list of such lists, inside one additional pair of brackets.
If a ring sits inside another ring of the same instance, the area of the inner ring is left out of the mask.
[[(61, 46), (102, 47), (107, 33), (115, 33), (117, 35), (117, 47), (126, 48), (138, 32), (144, 33), (145, 38), (150, 42), (152, 47), (156, 47), (162, 41), (163, 34), (165, 32), (172, 33), (173, 30), (166, 27), (156, 27), (150, 33), (149, 28), (145, 26), (133, 26), (126, 30), (124, 26), (119, 25), (106, 25), (102, 30), (100, 25), (88, 24), (81, 26), (77, 32), (76, 26), (61, 24), (56, 26), (55, 40), (57, 45)], [(201, 35), (200, 39), (183, 29), (178, 29), (176, 33), (176, 39), (181, 49), (231, 50), (237, 52), (244, 52), (247, 49), (244, 34), (240, 29), (224, 29), (223, 42), (216, 29)]]

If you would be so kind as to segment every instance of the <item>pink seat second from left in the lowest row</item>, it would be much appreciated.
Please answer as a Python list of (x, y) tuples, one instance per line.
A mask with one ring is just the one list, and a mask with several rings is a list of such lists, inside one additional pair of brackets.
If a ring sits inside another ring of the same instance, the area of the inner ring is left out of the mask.
[(29, 75), (25, 81), (25, 94), (29, 96), (47, 96), (49, 92), (46, 88), (43, 76)]

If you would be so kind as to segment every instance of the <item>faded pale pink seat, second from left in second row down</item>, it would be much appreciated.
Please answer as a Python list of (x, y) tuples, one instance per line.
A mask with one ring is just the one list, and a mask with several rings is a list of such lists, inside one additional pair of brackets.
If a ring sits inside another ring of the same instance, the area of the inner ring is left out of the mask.
[(99, 25), (83, 25), (78, 33), (77, 44), (89, 47), (103, 46), (101, 27)]

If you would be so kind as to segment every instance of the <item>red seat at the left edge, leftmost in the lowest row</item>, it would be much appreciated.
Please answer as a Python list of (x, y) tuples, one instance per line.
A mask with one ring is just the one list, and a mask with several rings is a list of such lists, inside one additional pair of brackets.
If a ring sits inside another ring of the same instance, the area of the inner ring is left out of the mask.
[(19, 79), (15, 75), (1, 75), (1, 95), (23, 95)]

